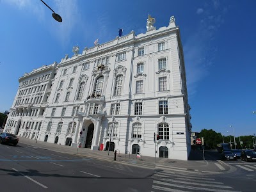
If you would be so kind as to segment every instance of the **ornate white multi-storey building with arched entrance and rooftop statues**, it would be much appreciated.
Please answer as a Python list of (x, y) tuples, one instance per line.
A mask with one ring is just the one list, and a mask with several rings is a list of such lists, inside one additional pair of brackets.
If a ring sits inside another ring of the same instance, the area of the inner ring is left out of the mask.
[(4, 131), (92, 150), (108, 150), (111, 139), (110, 150), (121, 153), (188, 159), (179, 27), (174, 17), (168, 27), (156, 29), (154, 22), (148, 16), (145, 34), (131, 31), (81, 54), (76, 46), (71, 58), (24, 74)]

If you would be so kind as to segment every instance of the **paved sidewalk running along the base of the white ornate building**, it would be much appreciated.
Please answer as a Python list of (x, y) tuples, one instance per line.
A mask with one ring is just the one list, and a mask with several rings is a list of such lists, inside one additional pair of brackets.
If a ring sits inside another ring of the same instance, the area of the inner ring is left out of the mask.
[[(220, 173), (220, 172), (228, 172), (230, 171), (230, 167), (225, 166), (225, 171), (220, 170), (215, 163), (217, 161), (202, 161), (198, 160), (202, 157), (202, 152), (200, 151), (191, 151), (189, 156), (189, 161), (182, 161), (177, 159), (166, 159), (166, 158), (156, 158), (155, 157), (148, 157), (148, 156), (141, 156), (140, 158), (136, 157), (134, 154), (120, 154), (117, 151), (116, 154), (116, 161), (114, 161), (114, 152), (110, 151), (108, 156), (108, 151), (102, 150), (90, 150), (90, 148), (71, 148), (65, 145), (58, 145), (54, 143), (47, 143), (44, 141), (37, 141), (31, 140), (28, 138), (22, 138), (19, 136), (19, 143), (24, 143), (26, 145), (32, 145), (35, 147), (45, 148), (48, 150), (53, 150), (56, 152), (61, 152), (65, 154), (72, 154), (81, 157), (90, 157), (95, 159), (100, 159), (104, 161), (112, 161), (116, 163), (123, 163), (123, 164), (130, 164), (134, 166), (145, 166), (147, 168), (156, 168), (158, 166), (164, 168), (177, 168), (177, 169), (186, 169), (191, 172), (205, 172), (205, 173)], [(19, 145), (19, 144), (18, 144)]]

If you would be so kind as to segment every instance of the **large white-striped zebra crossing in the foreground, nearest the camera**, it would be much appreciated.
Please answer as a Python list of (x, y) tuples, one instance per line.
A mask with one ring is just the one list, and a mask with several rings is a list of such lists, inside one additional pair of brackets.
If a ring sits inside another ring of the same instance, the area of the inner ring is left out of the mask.
[[(171, 191), (216, 191), (236, 192), (231, 186), (223, 182), (217, 182), (203, 173), (174, 168), (164, 165), (156, 165), (157, 172), (153, 176), (152, 192)], [(180, 172), (181, 171), (181, 172)]]

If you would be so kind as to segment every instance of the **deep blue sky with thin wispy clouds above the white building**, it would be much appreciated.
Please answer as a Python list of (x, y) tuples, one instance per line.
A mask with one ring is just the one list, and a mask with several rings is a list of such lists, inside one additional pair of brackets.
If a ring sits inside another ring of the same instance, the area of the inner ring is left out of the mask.
[[(90, 2), (90, 3), (88, 3)], [(256, 1), (0, 0), (0, 111), (10, 109), (24, 72), (61, 61), (72, 47), (92, 47), (175, 16), (180, 27), (193, 131), (256, 133)]]

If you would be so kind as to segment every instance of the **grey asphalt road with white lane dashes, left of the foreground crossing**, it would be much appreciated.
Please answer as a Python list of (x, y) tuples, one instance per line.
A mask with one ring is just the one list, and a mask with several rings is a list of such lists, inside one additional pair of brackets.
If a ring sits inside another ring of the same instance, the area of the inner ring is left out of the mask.
[(0, 145), (1, 191), (150, 191), (154, 170)]

